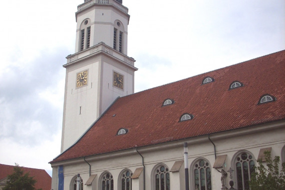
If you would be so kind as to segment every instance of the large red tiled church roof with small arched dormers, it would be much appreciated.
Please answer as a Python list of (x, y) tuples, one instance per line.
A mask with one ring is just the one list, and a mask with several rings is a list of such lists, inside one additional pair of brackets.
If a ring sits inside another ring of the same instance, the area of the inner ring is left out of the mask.
[[(206, 76), (214, 82), (202, 84)], [(244, 86), (229, 90), (236, 80)], [(276, 101), (258, 104), (263, 94)], [(167, 98), (174, 103), (162, 106)], [(194, 118), (179, 122), (183, 113)], [(285, 119), (285, 50), (120, 97), (51, 162), (281, 119)], [(127, 128), (127, 134), (116, 135), (120, 128)]]

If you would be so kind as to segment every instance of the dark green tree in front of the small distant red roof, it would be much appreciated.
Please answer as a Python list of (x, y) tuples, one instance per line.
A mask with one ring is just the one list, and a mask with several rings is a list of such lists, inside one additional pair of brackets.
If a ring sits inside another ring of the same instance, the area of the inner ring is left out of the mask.
[(22, 168), (15, 164), (13, 173), (8, 175), (6, 185), (2, 190), (34, 190), (36, 180), (29, 176), (29, 173), (24, 173)]

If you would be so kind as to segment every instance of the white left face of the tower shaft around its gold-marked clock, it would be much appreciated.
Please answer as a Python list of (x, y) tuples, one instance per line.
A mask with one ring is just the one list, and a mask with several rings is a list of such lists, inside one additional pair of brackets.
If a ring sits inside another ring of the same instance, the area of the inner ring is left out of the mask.
[[(66, 68), (62, 151), (72, 145), (99, 115), (99, 60), (87, 60)], [(76, 87), (76, 74), (88, 70), (87, 85)], [(88, 99), (88, 101), (86, 101)]]

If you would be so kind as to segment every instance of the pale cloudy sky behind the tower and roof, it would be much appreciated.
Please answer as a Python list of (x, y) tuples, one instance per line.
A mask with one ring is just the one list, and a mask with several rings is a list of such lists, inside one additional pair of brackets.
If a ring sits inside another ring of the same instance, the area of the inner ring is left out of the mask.
[[(0, 2), (0, 163), (50, 172), (84, 0)], [(285, 0), (123, 0), (141, 91), (285, 49)]]

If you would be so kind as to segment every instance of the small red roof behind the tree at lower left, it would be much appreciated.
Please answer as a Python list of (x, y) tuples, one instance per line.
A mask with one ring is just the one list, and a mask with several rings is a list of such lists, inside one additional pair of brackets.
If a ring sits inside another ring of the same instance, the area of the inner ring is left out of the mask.
[[(0, 164), (0, 179), (7, 177), (13, 173), (14, 165)], [(36, 180), (34, 187), (36, 189), (42, 188), (42, 190), (51, 189), (51, 177), (44, 169), (35, 169), (29, 167), (21, 167), (24, 173), (29, 172), (29, 176), (33, 176)]]

